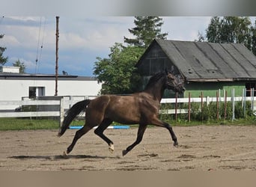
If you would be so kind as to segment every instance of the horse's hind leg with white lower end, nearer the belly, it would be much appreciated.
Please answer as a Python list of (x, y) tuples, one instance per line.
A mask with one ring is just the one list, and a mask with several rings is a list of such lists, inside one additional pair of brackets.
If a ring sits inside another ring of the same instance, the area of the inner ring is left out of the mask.
[(103, 134), (103, 131), (112, 123), (112, 120), (104, 119), (102, 123), (100, 123), (100, 126), (97, 127), (97, 129), (94, 130), (94, 133), (100, 138), (102, 138), (106, 143), (109, 145), (109, 151), (111, 153), (114, 152), (114, 143), (106, 137), (106, 135)]

